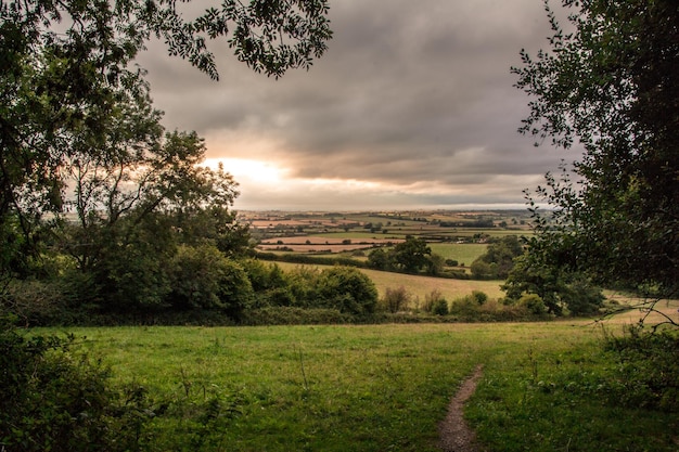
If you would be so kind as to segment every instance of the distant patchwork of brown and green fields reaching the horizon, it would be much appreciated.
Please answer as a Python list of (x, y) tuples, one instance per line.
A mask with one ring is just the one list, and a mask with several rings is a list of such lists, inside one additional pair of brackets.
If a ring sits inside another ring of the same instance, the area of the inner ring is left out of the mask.
[[(329, 263), (341, 257), (364, 262), (376, 248), (390, 248), (417, 237), (433, 255), (443, 257), (441, 270), (470, 273), (488, 243), (507, 235), (531, 234), (527, 211), (402, 211), (402, 212), (241, 212), (251, 225), (260, 258)], [(452, 261), (452, 262), (451, 262)]]

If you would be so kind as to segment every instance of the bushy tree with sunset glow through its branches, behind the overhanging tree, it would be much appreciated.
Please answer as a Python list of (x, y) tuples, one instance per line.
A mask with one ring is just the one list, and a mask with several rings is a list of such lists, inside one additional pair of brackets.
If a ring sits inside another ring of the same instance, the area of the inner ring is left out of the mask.
[[(120, 129), (112, 124), (105, 133), (126, 133)], [(89, 293), (106, 309), (163, 307), (169, 292), (177, 292), (171, 282), (178, 279), (168, 269), (178, 244), (243, 253), (247, 229), (229, 210), (235, 182), (221, 167), (200, 166), (204, 153), (195, 132), (175, 131), (151, 144), (123, 143), (115, 152), (67, 159), (63, 179), (75, 190), (65, 206), (77, 221), (54, 230), (53, 248), (89, 275), (76, 280), (87, 283), (86, 290), (76, 288), (81, 296)]]

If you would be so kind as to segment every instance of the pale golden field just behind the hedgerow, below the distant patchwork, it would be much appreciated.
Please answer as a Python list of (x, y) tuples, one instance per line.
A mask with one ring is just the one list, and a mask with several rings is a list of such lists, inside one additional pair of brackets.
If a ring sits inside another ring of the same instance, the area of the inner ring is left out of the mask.
[[(297, 263), (276, 262), (282, 270), (289, 271), (299, 267)], [(330, 266), (306, 266), (310, 268), (329, 268)], [(403, 286), (409, 294), (421, 301), (432, 290), (439, 290), (448, 301), (454, 298), (470, 295), (473, 290), (482, 290), (490, 298), (500, 298), (504, 293), (500, 290), (501, 281), (477, 281), (477, 280), (451, 280), (444, 277), (420, 276), (414, 274), (394, 273), (379, 270), (360, 269), (366, 273), (377, 287), (380, 296), (383, 296), (388, 288)]]

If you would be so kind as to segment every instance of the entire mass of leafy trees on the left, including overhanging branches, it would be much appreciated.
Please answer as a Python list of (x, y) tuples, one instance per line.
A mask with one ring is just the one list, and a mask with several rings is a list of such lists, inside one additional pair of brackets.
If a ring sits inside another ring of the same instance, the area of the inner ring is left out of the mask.
[(197, 133), (165, 130), (134, 59), (157, 38), (216, 79), (208, 41), (221, 40), (280, 77), (324, 52), (328, 1), (196, 3), (0, 0), (0, 307), (27, 315), (27, 279), (75, 309), (238, 315), (249, 302), (243, 269), (223, 260), (248, 246), (238, 184), (202, 166)]

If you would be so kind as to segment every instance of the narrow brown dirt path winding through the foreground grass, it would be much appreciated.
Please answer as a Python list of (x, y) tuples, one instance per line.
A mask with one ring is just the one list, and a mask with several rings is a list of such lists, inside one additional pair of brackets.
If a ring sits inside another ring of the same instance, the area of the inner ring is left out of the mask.
[(448, 415), (440, 423), (439, 448), (444, 452), (477, 452), (478, 448), (474, 442), (474, 431), (466, 425), (462, 417), (462, 409), (467, 399), (476, 390), (476, 385), (483, 375), (483, 366), (476, 366), (474, 373), (464, 380), (460, 390), (450, 400)]

